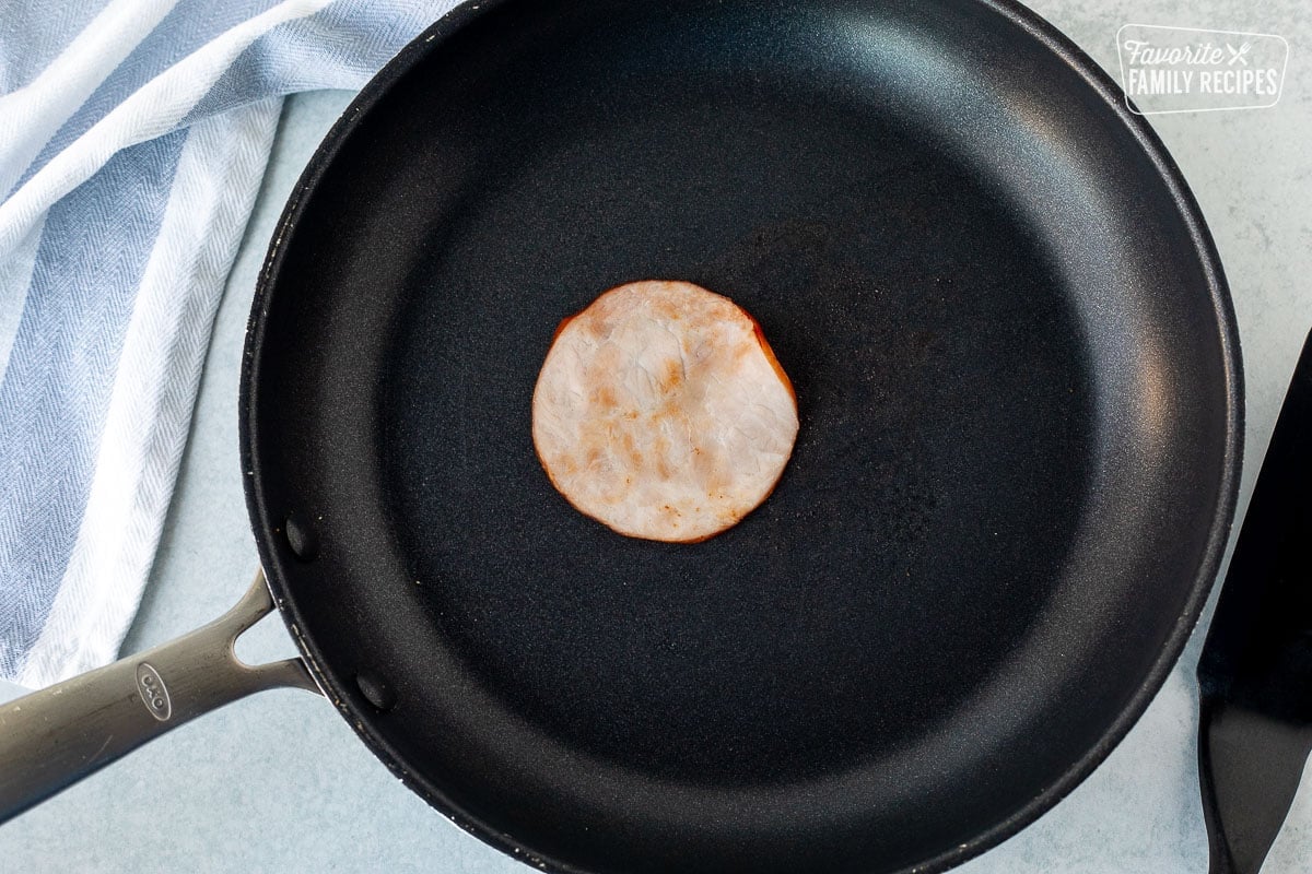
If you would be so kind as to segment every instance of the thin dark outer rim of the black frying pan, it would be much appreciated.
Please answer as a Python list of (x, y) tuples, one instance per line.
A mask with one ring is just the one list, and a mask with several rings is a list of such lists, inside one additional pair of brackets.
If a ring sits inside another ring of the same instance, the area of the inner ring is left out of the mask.
[[(583, 869), (563, 860), (542, 856), (529, 846), (514, 840), (512, 836), (499, 832), (478, 816), (471, 815), (459, 805), (454, 803), (440, 786), (426, 777), (407, 769), (404, 757), (391, 743), (375, 729), (374, 722), (366, 718), (359, 709), (352, 704), (352, 692), (345, 680), (335, 672), (325, 670), (321, 663), (321, 653), (315, 643), (312, 634), (306, 634), (300, 612), (291, 598), (287, 580), (279, 570), (279, 561), (273, 546), (276, 532), (264, 520), (269, 519), (265, 495), (261, 490), (264, 477), (260, 473), (260, 461), (256, 452), (256, 426), (255, 410), (258, 400), (258, 387), (256, 385), (256, 372), (260, 368), (260, 352), (264, 345), (266, 328), (268, 299), (274, 288), (274, 278), (279, 274), (283, 258), (287, 252), (287, 242), (295, 231), (300, 218), (304, 215), (308, 195), (321, 182), (325, 172), (332, 165), (342, 144), (357, 128), (361, 119), (367, 115), (387, 93), (391, 86), (409, 72), (416, 63), (438, 48), (451, 35), (464, 28), (470, 21), (514, 0), (466, 0), (436, 21), (411, 43), (408, 43), (382, 71), (371, 79), (356, 96), (341, 118), (332, 126), (324, 140), (316, 148), (302, 176), (297, 181), (291, 195), (276, 225), (273, 241), (270, 242), (264, 265), (256, 282), (255, 296), (251, 307), (251, 316), (247, 324), (240, 389), (239, 389), (239, 435), (241, 469), (245, 473), (244, 491), (247, 511), (252, 529), (256, 535), (256, 544), (261, 565), (265, 569), (268, 586), (278, 605), (279, 615), (293, 632), (297, 647), (304, 658), (311, 675), (325, 696), (338, 709), (341, 715), (350, 725), (365, 746), (382, 761), (409, 790), (420, 795), (429, 806), (450, 819), (462, 829), (479, 837), (488, 845), (506, 853), (520, 861), (527, 862), (546, 871), (559, 874), (596, 874), (590, 869)], [(1203, 220), (1202, 210), (1189, 189), (1179, 166), (1166, 151), (1156, 131), (1147, 118), (1131, 110), (1128, 98), (1110, 73), (1097, 64), (1082, 48), (1059, 31), (1052, 24), (1040, 17), (1036, 12), (1022, 5), (1018, 0), (968, 0), (994, 14), (1001, 16), (1006, 22), (1019, 28), (1027, 37), (1036, 41), (1051, 51), (1067, 68), (1080, 76), (1080, 79), (1096, 93), (1115, 118), (1134, 136), (1135, 142), (1149, 159), (1161, 182), (1165, 185), (1172, 202), (1183, 220), (1189, 232), (1194, 250), (1198, 253), (1199, 266), (1207, 282), (1207, 291), (1218, 317), (1220, 332), (1219, 346), (1221, 363), (1224, 366), (1224, 394), (1227, 404), (1225, 439), (1223, 451), (1223, 469), (1218, 482), (1216, 512), (1207, 532), (1206, 545), (1200, 553), (1199, 566), (1194, 583), (1190, 588), (1179, 616), (1176, 618), (1165, 646), (1160, 650), (1151, 668), (1141, 679), (1139, 688), (1130, 697), (1128, 702), (1111, 721), (1106, 731), (1093, 744), (1088, 752), (1072, 765), (1043, 793), (1035, 795), (1010, 816), (997, 822), (991, 828), (980, 832), (970, 840), (939, 853), (935, 857), (922, 860), (908, 867), (900, 869), (897, 874), (933, 874), (955, 867), (964, 861), (979, 856), (1006, 839), (1017, 835), (1025, 827), (1033, 824), (1044, 812), (1055, 807), (1061, 799), (1069, 795), (1076, 786), (1084, 782), (1093, 770), (1102, 764), (1111, 751), (1126, 738), (1131, 727), (1143, 717), (1149, 702), (1156, 697), (1166, 677), (1179, 660), (1179, 656), (1199, 624), (1207, 600), (1216, 586), (1221, 558), (1229, 540), (1233, 524), (1235, 510), (1239, 498), (1239, 482), (1244, 455), (1244, 383), (1241, 367), (1241, 349), (1239, 328), (1235, 317), (1233, 303), (1229, 296), (1229, 287), (1221, 267), (1220, 256), (1216, 250), (1211, 232)]]

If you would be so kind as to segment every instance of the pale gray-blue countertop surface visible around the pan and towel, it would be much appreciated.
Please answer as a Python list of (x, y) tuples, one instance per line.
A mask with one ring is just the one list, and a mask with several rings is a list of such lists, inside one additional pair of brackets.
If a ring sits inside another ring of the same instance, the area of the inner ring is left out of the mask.
[[(1286, 37), (1284, 94), (1260, 111), (1158, 115), (1216, 237), (1235, 297), (1248, 389), (1240, 512), (1312, 328), (1312, 45), (1305, 0), (1075, 0), (1031, 5), (1117, 72), (1127, 22)], [(1119, 76), (1118, 76), (1119, 79)], [(237, 465), (237, 373), (256, 271), (300, 168), (350, 94), (286, 104), (269, 172), (218, 314), (177, 493), (125, 651), (222, 613), (256, 570)], [(1206, 621), (1143, 719), (1110, 759), (1036, 824), (963, 874), (1197, 874), (1207, 844), (1195, 770), (1193, 680)], [(291, 654), (277, 620), (239, 643)], [(0, 698), (18, 694), (0, 684)], [(247, 698), (133, 753), (0, 828), (9, 871), (527, 870), (450, 826), (404, 789), (333, 708), (304, 692)], [(1312, 869), (1312, 781), (1263, 869)]]

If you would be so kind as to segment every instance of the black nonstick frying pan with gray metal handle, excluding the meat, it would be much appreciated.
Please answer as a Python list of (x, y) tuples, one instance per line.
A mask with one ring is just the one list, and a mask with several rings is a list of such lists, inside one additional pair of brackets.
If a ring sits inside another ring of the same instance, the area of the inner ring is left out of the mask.
[[(556, 324), (644, 278), (743, 305), (800, 404), (702, 544), (614, 535), (533, 452)], [(306, 170), (240, 409), (268, 590), (0, 710), (10, 814), (290, 683), (548, 870), (942, 870), (1143, 712), (1242, 431), (1178, 170), (994, 0), (458, 8)], [(237, 666), (274, 601), (303, 662)]]

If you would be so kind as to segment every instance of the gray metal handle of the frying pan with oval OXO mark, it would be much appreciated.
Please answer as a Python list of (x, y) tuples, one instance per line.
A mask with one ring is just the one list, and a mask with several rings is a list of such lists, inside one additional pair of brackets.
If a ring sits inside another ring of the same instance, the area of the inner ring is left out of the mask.
[(0, 823), (252, 692), (319, 692), (299, 658), (258, 667), (237, 660), (237, 636), (272, 609), (261, 570), (237, 605), (209, 625), (0, 705)]

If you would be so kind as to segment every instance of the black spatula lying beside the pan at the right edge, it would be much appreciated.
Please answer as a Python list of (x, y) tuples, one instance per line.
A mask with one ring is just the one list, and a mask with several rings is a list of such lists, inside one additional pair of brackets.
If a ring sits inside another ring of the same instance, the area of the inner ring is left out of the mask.
[(1312, 750), (1312, 337), (1198, 666), (1211, 874), (1257, 874)]

